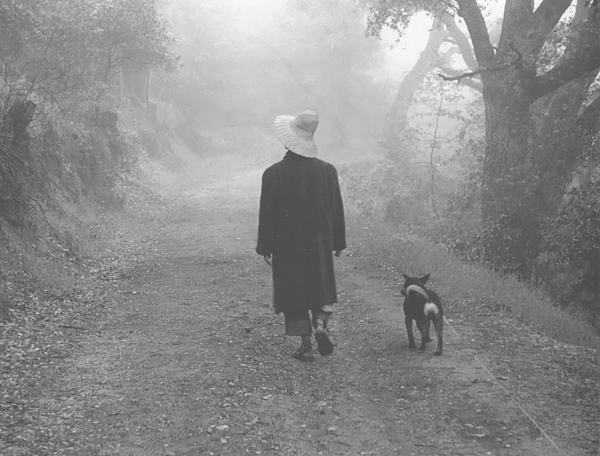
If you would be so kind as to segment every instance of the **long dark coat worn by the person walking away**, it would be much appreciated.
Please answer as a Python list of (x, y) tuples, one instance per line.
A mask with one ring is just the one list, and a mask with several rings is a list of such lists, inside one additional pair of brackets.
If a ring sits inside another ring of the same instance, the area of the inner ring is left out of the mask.
[(333, 252), (346, 248), (337, 171), (289, 152), (262, 177), (256, 252), (273, 255), (275, 312), (337, 302)]

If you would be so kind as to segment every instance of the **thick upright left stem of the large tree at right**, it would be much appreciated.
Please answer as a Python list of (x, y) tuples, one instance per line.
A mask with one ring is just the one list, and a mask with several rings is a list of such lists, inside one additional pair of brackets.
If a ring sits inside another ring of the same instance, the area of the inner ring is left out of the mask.
[[(507, 74), (508, 73), (508, 74)], [(484, 85), (486, 150), (483, 161), (483, 244), (487, 260), (529, 278), (541, 235), (533, 160), (528, 156), (532, 99), (517, 70), (488, 77)]]

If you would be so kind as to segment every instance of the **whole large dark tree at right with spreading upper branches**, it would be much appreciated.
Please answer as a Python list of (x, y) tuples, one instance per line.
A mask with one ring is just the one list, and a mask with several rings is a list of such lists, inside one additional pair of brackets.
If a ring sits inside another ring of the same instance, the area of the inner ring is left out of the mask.
[[(533, 0), (507, 0), (497, 43), (490, 39), (476, 0), (383, 1), (378, 7), (378, 11), (400, 11), (395, 17), (404, 21), (417, 10), (434, 15), (440, 9), (465, 21), (477, 68), (445, 79), (481, 79), (486, 132), (481, 195), (485, 255), (499, 269), (512, 270), (522, 278), (531, 276), (542, 220), (556, 206), (551, 204), (556, 190), (564, 193), (564, 182), (579, 158), (571, 144), (553, 147), (552, 153), (532, 144), (533, 128), (540, 126), (536, 125), (539, 106), (557, 101), (559, 92), (565, 90), (577, 92), (583, 103), (600, 68), (600, 5), (578, 0), (570, 23), (560, 25), (571, 3), (543, 0), (535, 7)], [(563, 43), (559, 55), (548, 62), (545, 45), (557, 27), (563, 30)], [(579, 104), (576, 112), (586, 112), (593, 105), (584, 109)], [(567, 166), (557, 156), (568, 160)]]

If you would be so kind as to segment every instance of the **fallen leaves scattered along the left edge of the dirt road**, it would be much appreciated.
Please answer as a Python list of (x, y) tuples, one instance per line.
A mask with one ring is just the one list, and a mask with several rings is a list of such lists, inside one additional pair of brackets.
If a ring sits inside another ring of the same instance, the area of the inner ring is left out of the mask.
[[(162, 208), (157, 206), (155, 212)], [(97, 393), (72, 391), (53, 397), (64, 388), (55, 383), (61, 380), (63, 360), (100, 321), (112, 287), (127, 279), (122, 271), (148, 246), (142, 239), (152, 228), (131, 224), (127, 233), (115, 232), (112, 238), (110, 229), (104, 229), (108, 237), (97, 239), (102, 257), (95, 259), (65, 256), (58, 244), (55, 251), (48, 250), (54, 243), (49, 238), (51, 242), (40, 242), (34, 253), (20, 254), (22, 262), (3, 262), (0, 276), (10, 278), (0, 291), (10, 297), (10, 307), (0, 321), (0, 454), (58, 454), (58, 448), (72, 450), (74, 441), (82, 438), (72, 426), (85, 413), (82, 404), (94, 401)]]

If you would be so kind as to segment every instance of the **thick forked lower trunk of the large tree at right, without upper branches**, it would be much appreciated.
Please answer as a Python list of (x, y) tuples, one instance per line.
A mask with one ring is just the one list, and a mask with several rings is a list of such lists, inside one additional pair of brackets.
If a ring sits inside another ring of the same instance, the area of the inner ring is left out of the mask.
[(482, 185), (487, 260), (525, 280), (543, 222), (557, 211), (579, 162), (585, 137), (577, 112), (594, 80), (581, 77), (535, 102), (527, 77), (514, 69), (487, 78)]

